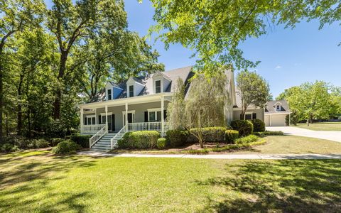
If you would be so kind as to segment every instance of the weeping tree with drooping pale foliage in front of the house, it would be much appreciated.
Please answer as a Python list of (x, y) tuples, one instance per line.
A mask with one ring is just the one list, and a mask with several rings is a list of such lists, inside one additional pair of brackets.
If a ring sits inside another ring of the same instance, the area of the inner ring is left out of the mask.
[(227, 77), (219, 72), (214, 77), (197, 75), (190, 82), (188, 96), (182, 80), (177, 81), (175, 94), (168, 104), (168, 125), (170, 129), (189, 131), (203, 148), (202, 128), (225, 126), (224, 106), (229, 103)]

